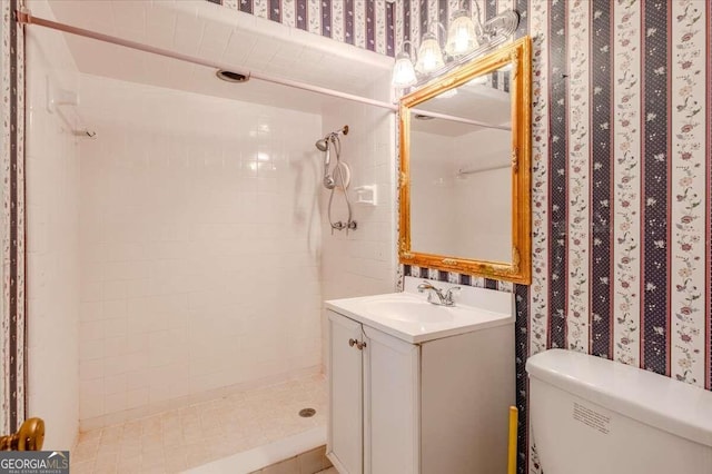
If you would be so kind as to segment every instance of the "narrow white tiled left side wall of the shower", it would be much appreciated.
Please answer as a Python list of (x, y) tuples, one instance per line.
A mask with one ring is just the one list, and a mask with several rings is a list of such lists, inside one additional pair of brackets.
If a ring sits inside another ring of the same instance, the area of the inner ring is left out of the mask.
[[(44, 1), (30, 1), (51, 18)], [(47, 424), (44, 450), (70, 450), (78, 428), (79, 150), (71, 108), (47, 109), (51, 89), (76, 91), (60, 33), (27, 30), (28, 417)]]

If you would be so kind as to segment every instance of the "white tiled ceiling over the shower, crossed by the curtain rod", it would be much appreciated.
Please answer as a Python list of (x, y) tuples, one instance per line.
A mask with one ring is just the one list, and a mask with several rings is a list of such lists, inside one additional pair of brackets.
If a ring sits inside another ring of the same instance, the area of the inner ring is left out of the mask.
[[(389, 76), (393, 58), (206, 0), (49, 3), (51, 12), (38, 9), (32, 13), (40, 18), (49, 13), (56, 21), (73, 27), (228, 65), (238, 72), (286, 78), (377, 100), (390, 99), (390, 90), (380, 91), (372, 86)], [(319, 112), (326, 102), (334, 100), (258, 79), (229, 83), (217, 79), (214, 68), (73, 34), (65, 33), (65, 38), (79, 71), (87, 75), (312, 112)]]

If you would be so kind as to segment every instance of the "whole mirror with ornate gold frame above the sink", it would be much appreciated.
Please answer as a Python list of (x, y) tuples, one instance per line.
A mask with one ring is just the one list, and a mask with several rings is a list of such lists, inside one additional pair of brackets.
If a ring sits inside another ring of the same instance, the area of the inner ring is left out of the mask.
[(402, 264), (531, 283), (531, 38), (399, 102)]

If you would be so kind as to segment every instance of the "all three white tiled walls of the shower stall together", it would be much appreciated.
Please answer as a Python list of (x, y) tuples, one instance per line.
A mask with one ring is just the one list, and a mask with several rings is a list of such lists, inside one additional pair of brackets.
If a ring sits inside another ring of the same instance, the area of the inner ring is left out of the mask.
[[(27, 37), (29, 406), (46, 445), (322, 374), (323, 300), (396, 284), (393, 115), (86, 73), (59, 33)], [(388, 98), (382, 72), (364, 93)], [(50, 110), (67, 91), (78, 105)], [(346, 124), (352, 186), (379, 199), (332, 235), (314, 142)]]

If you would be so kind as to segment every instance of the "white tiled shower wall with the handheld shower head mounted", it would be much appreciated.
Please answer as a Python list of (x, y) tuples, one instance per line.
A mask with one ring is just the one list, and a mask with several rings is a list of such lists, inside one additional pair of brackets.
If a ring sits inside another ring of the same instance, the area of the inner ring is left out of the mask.
[[(390, 90), (389, 79), (388, 75), (377, 78), (369, 90), (362, 93), (373, 93), (379, 100), (389, 100), (386, 96)], [(352, 200), (355, 187), (375, 184), (378, 189), (377, 206), (353, 206), (353, 218), (358, 224), (355, 231), (346, 235), (345, 231), (335, 230), (332, 235), (326, 218), (329, 195), (319, 186), (324, 234), (320, 267), (324, 299), (395, 292), (395, 115), (384, 109), (339, 100), (326, 107), (323, 117), (323, 136), (344, 125), (349, 126), (348, 135), (342, 137), (342, 159), (352, 170)], [(345, 220), (340, 196), (335, 196), (334, 199), (335, 220)], [(326, 328), (325, 318), (323, 327)], [(323, 349), (326, 350), (326, 329), (323, 334)]]

